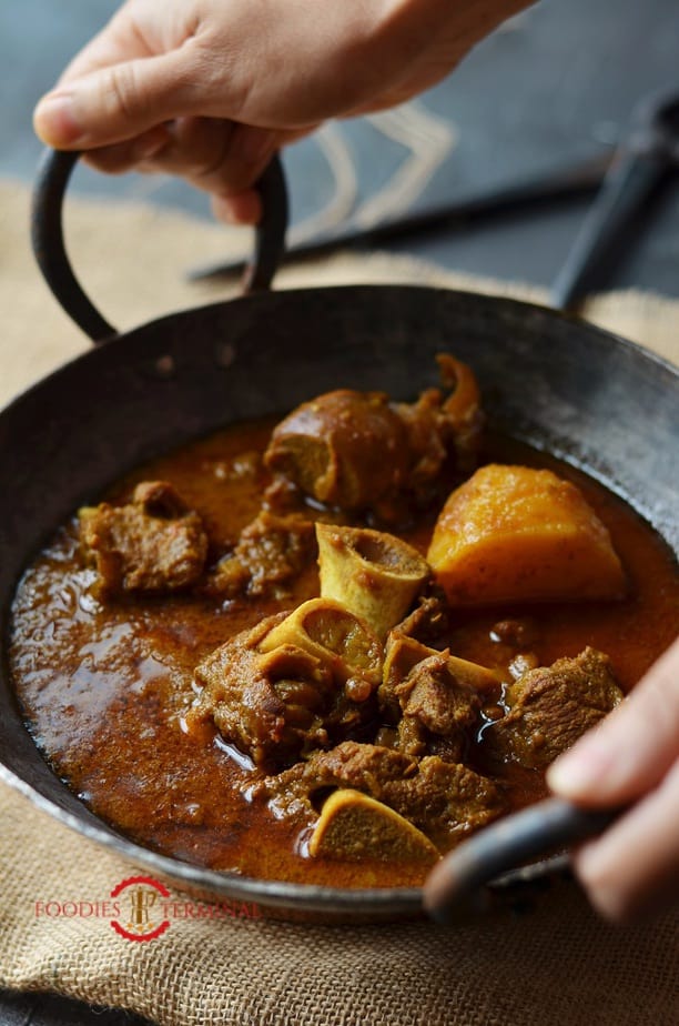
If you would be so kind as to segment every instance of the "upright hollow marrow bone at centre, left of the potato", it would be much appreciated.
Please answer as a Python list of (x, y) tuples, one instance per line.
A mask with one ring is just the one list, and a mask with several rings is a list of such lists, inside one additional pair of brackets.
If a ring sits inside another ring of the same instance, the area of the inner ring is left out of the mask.
[(321, 595), (362, 616), (384, 640), (430, 575), (426, 560), (383, 531), (316, 524)]

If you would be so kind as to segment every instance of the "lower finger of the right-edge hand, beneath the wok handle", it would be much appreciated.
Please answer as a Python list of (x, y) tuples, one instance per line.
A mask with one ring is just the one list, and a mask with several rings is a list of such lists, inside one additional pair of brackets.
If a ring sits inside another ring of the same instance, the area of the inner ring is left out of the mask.
[(660, 787), (574, 858), (577, 876), (604, 916), (624, 921), (679, 898), (677, 824), (679, 761)]

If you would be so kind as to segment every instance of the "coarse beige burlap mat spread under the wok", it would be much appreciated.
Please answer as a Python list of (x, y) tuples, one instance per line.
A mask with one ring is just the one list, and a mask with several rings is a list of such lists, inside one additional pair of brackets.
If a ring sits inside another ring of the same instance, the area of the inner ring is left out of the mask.
[[(27, 207), (22, 185), (0, 183), (0, 401), (87, 348), (34, 270)], [(121, 330), (223, 295), (223, 285), (183, 284), (182, 271), (246, 245), (243, 235), (179, 214), (84, 201), (70, 202), (68, 228), (83, 283)], [(540, 298), (537, 290), (382, 255), (305, 266), (283, 274), (281, 284), (358, 281)], [(592, 303), (588, 315), (679, 360), (678, 303), (611, 294)], [(111, 928), (110, 915), (85, 915), (134, 867), (55, 824), (4, 785), (0, 814), (6, 987), (131, 1008), (162, 1026), (679, 1023), (673, 914), (616, 929), (594, 916), (574, 885), (561, 884), (529, 914), (447, 931), (425, 923), (291, 926), (249, 918), (240, 909), (235, 918), (173, 918), (158, 939), (134, 943)], [(79, 912), (50, 916), (48, 903), (52, 913), (57, 906)]]

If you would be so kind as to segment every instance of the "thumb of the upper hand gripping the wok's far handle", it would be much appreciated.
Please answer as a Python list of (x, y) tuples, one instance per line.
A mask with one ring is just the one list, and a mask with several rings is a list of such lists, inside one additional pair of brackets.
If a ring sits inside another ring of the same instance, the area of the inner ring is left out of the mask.
[(193, 113), (197, 77), (188, 49), (111, 64), (57, 87), (33, 113), (38, 137), (55, 149), (87, 150)]

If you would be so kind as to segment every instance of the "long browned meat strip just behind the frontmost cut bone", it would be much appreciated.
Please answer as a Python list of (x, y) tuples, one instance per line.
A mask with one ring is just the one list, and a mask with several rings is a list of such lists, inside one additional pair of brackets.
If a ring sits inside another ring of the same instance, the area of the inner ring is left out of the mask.
[(505, 808), (495, 784), (466, 766), (428, 755), (417, 760), (379, 745), (345, 741), (252, 788), (276, 815), (313, 812), (316, 795), (352, 787), (388, 805), (440, 851), (496, 818)]

